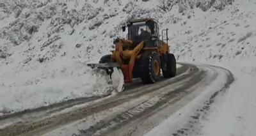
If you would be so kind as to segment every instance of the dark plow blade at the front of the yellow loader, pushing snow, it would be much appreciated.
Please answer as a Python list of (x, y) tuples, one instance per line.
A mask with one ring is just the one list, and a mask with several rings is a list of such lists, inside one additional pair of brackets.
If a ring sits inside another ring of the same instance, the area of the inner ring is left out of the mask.
[(121, 69), (121, 66), (118, 63), (98, 63), (98, 64), (87, 64), (87, 66), (90, 66), (93, 69), (100, 69), (105, 70), (106, 73), (110, 76), (112, 76), (114, 72), (114, 68)]

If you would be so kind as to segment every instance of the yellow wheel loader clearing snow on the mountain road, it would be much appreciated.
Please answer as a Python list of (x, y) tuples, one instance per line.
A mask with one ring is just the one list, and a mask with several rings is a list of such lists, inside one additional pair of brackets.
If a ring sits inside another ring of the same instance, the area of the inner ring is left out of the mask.
[(127, 38), (116, 38), (112, 54), (101, 57), (100, 64), (89, 65), (106, 68), (110, 75), (111, 68), (121, 68), (125, 82), (140, 78), (143, 83), (154, 83), (159, 80), (161, 70), (163, 77), (175, 77), (176, 60), (170, 54), (168, 29), (161, 31), (160, 39), (157, 22), (156, 19), (129, 20), (122, 26), (123, 31), (128, 29)]

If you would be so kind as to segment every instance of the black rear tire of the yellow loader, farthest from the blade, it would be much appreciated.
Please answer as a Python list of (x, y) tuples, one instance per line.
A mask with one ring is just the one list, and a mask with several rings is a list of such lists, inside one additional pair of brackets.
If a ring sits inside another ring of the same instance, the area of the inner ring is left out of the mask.
[(163, 76), (165, 78), (175, 77), (176, 75), (176, 59), (173, 54), (166, 54), (166, 70), (163, 70)]

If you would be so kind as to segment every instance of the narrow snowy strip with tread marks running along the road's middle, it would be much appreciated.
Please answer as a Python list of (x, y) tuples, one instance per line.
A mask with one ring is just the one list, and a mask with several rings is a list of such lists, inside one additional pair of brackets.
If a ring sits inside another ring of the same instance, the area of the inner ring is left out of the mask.
[[(184, 93), (185, 89), (188, 89), (188, 87), (192, 86), (193, 84), (196, 84), (196, 82), (200, 81), (205, 76), (205, 73), (203, 71), (195, 73), (195, 75), (185, 82), (188, 82), (188, 84), (183, 85), (183, 82), (179, 82), (178, 86), (173, 86), (176, 88), (168, 86), (164, 87), (165, 89), (161, 89), (159, 91), (159, 94), (156, 96), (150, 98), (149, 100), (136, 105), (136, 107), (132, 107), (132, 109), (129, 109), (121, 114), (118, 114), (118, 116), (114, 117), (113, 119), (106, 119), (102, 120), (99, 123), (97, 123), (95, 126), (91, 126), (87, 130), (81, 130), (81, 134), (79, 135), (93, 135), (99, 130), (107, 129), (111, 132), (111, 130), (115, 130), (116, 127), (120, 127), (123, 124), (132, 121), (133, 119), (140, 118), (141, 116), (145, 114), (149, 114), (153, 110), (159, 109), (160, 107), (163, 107), (166, 103), (170, 102), (170, 99), (176, 98), (180, 93)], [(172, 99), (171, 101), (175, 101), (175, 99)], [(101, 133), (104, 133), (101, 132)], [(104, 134), (106, 135), (106, 133)]]

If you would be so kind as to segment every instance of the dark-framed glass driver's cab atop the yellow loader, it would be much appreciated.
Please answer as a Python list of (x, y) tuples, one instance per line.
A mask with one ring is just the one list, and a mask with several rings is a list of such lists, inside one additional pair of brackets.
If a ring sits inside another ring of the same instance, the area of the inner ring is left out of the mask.
[[(159, 28), (156, 19), (135, 19), (130, 20), (127, 24), (128, 40), (134, 45), (145, 41), (148, 47), (156, 47), (159, 40)], [(122, 28), (125, 31), (125, 27)]]

